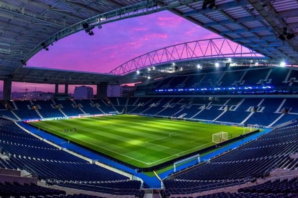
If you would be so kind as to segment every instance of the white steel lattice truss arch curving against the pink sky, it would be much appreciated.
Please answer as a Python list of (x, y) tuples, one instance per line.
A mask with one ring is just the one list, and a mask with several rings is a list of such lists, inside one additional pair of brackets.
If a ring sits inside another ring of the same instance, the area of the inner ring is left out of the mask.
[(125, 62), (109, 74), (125, 75), (146, 67), (184, 60), (232, 57), (263, 57), (263, 55), (226, 38), (204, 39), (148, 52)]

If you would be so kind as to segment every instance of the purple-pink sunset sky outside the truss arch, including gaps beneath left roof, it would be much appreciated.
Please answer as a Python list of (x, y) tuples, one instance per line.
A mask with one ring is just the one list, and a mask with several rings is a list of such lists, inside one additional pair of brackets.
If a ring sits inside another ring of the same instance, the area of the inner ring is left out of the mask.
[[(168, 11), (120, 20), (102, 27), (94, 28), (93, 36), (81, 31), (58, 40), (49, 46), (49, 51), (41, 50), (33, 56), (27, 66), (105, 73), (152, 50), (219, 37)], [(29, 91), (36, 87), (37, 91), (53, 92), (55, 86), (15, 82), (12, 91), (21, 91), (19, 89), (25, 87)], [(60, 91), (63, 89), (61, 86)], [(73, 90), (74, 86), (69, 86), (69, 92)]]

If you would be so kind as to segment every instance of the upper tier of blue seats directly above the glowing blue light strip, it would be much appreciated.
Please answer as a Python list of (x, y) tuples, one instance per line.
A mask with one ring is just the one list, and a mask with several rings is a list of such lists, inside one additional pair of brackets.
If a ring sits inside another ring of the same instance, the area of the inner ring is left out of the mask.
[[(237, 86), (264, 86), (274, 87), (289, 85), (285, 78), (288, 68), (268, 67), (221, 67), (200, 69), (198, 71), (165, 78), (147, 85), (139, 85), (136, 91), (150, 91), (164, 88), (211, 88)], [(296, 70), (291, 72), (289, 79), (297, 77)], [(297, 79), (298, 80), (298, 79)], [(297, 85), (297, 82), (294, 82)]]

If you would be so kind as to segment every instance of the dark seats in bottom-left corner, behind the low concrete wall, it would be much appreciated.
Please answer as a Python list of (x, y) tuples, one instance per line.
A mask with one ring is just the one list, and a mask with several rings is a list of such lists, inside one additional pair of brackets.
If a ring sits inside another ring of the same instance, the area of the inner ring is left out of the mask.
[(59, 196), (65, 194), (65, 191), (44, 188), (35, 184), (0, 183), (0, 197)]

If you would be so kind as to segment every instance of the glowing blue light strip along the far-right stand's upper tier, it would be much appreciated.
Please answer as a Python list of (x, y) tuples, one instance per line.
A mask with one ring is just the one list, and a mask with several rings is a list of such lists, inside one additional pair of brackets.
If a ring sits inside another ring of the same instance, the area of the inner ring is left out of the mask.
[(156, 89), (155, 91), (222, 91), (222, 90), (249, 90), (249, 89), (271, 89), (273, 86), (245, 86), (245, 87), (216, 87), (216, 88), (176, 88)]

